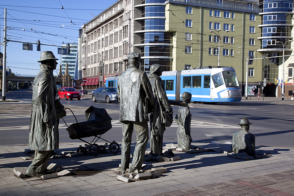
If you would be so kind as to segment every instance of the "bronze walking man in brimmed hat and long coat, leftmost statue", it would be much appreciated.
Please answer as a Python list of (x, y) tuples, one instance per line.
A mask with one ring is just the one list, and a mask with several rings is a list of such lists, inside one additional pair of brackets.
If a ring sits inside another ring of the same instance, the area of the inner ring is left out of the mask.
[(26, 175), (35, 176), (44, 173), (51, 153), (58, 149), (58, 123), (55, 111), (57, 88), (53, 70), (56, 69), (55, 58), (51, 51), (41, 52), (38, 62), (40, 71), (33, 82), (32, 113), (29, 131), (29, 148), (35, 150), (35, 158)]

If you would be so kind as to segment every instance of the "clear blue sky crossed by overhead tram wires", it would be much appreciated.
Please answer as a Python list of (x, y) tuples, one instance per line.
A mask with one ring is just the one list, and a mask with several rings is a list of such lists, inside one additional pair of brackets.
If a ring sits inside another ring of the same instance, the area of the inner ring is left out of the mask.
[[(62, 45), (62, 42), (77, 42), (78, 29), (83, 23), (90, 21), (114, 2), (116, 0), (1, 1), (1, 43), (3, 42), (4, 8), (7, 9), (7, 38), (9, 40), (31, 43), (40, 40), (43, 44)], [(61, 9), (61, 6), (64, 9)], [(41, 51), (52, 51), (56, 58), (60, 59), (57, 48), (41, 45)], [(1, 45), (0, 51), (3, 53), (3, 45)], [(40, 68), (40, 63), (37, 61), (40, 60), (41, 51), (36, 51), (36, 45), (33, 45), (33, 51), (30, 51), (22, 50), (22, 43), (8, 42), (6, 67), (16, 74), (36, 75)], [(57, 68), (59, 69), (59, 65)], [(54, 75), (57, 75), (58, 72), (59, 70), (56, 70)]]

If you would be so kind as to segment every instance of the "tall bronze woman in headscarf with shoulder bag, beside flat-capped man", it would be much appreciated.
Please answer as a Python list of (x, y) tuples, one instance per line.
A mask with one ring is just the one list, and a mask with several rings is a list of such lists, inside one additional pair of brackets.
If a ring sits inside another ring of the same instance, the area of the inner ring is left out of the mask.
[(155, 155), (162, 153), (163, 133), (166, 126), (166, 113), (173, 115), (173, 108), (168, 102), (165, 89), (161, 84), (162, 68), (159, 64), (150, 67), (149, 81), (155, 98), (153, 112), (149, 114), (150, 121), (150, 150)]

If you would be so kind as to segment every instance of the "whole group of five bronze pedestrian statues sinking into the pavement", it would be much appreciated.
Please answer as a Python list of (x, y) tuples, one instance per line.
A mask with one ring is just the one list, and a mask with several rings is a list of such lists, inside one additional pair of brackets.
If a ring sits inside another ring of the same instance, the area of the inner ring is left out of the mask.
[[(58, 149), (58, 119), (55, 111), (55, 96), (57, 93), (53, 70), (56, 69), (54, 54), (51, 51), (41, 53), (40, 72), (34, 80), (32, 114), (29, 131), (29, 148), (35, 150), (35, 158), (26, 171), (26, 175), (35, 176), (44, 173), (51, 153)], [(139, 70), (141, 55), (128, 55), (128, 68), (118, 76), (117, 94), (120, 104), (119, 121), (122, 123), (123, 139), (121, 143), (121, 172), (132, 173), (140, 170), (143, 164), (146, 146), (149, 139), (148, 121), (150, 121), (150, 149), (153, 155), (162, 154), (163, 133), (166, 126), (171, 126), (173, 109), (161, 84), (162, 68), (159, 64), (150, 67), (150, 76)], [(186, 106), (179, 106), (175, 121), (178, 124), (177, 138), (179, 148), (191, 149), (191, 113), (188, 104), (191, 102), (191, 93), (181, 95)], [(239, 145), (237, 140), (252, 140), (248, 119), (240, 122), (241, 133), (233, 135), (233, 151), (241, 152), (248, 148), (247, 144)], [(241, 124), (242, 123), (242, 124)], [(131, 154), (131, 138), (133, 129), (136, 132), (136, 147), (133, 160), (129, 167)], [(252, 136), (253, 135), (253, 136)], [(236, 140), (236, 142), (234, 142)], [(237, 143), (237, 144), (236, 144)], [(242, 141), (241, 141), (242, 143)], [(254, 144), (249, 145), (250, 153), (255, 153)], [(242, 148), (242, 149), (240, 149)], [(253, 149), (254, 148), (254, 152)]]

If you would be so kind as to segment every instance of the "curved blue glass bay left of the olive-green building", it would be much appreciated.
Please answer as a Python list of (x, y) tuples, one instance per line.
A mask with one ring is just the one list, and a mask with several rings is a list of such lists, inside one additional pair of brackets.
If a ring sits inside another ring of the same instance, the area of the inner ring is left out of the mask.
[(165, 6), (152, 5), (154, 3), (164, 3), (165, 1), (142, 0), (142, 4), (150, 4), (142, 8), (142, 17), (154, 17), (141, 21), (141, 30), (149, 31), (141, 34), (141, 43), (146, 44), (141, 49), (141, 56), (146, 57), (142, 58), (144, 61), (141, 63), (141, 70), (144, 71), (150, 71), (152, 64), (161, 64), (163, 71), (171, 70), (172, 59), (168, 59), (168, 57), (172, 57), (172, 46), (166, 46), (164, 44), (172, 43), (173, 34), (158, 31), (165, 30), (165, 19), (162, 18), (165, 16)]

